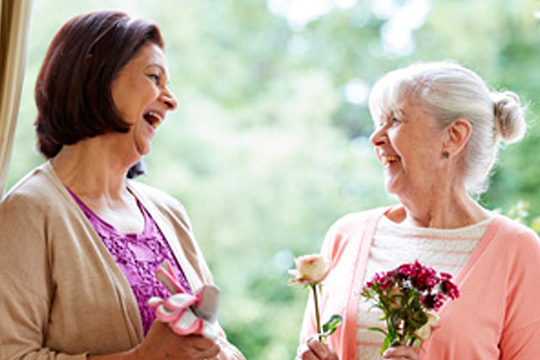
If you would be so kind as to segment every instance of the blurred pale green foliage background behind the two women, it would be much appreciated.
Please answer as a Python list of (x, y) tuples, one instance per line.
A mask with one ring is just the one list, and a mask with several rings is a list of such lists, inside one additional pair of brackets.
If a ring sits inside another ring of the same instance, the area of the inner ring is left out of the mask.
[[(34, 0), (9, 185), (42, 162), (33, 84), (72, 15), (122, 9), (166, 39), (170, 114), (141, 181), (187, 207), (216, 282), (220, 322), (248, 359), (292, 359), (304, 292), (293, 256), (339, 216), (392, 203), (369, 144), (366, 96), (385, 72), (455, 59), (528, 104), (529, 134), (503, 149), (488, 208), (540, 213), (540, 33), (535, 0)], [(311, 14), (311, 15), (310, 15)], [(308, 16), (309, 15), (309, 16)], [(323, 319), (324, 320), (324, 319)]]

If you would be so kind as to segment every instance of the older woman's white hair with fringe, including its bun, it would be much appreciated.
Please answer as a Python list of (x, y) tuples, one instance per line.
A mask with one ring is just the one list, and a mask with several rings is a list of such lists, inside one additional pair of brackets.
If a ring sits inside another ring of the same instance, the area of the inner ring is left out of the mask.
[(441, 128), (458, 118), (471, 123), (463, 180), (470, 193), (484, 192), (500, 142), (517, 142), (525, 135), (519, 97), (510, 91), (490, 91), (476, 73), (453, 62), (417, 63), (392, 71), (375, 84), (369, 99), (373, 121), (399, 114), (411, 96), (421, 101)]

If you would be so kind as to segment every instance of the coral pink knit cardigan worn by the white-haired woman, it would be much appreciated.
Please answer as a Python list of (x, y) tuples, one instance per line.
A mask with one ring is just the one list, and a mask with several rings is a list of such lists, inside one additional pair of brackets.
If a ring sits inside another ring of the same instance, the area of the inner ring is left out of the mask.
[[(346, 215), (329, 230), (322, 254), (331, 262), (323, 285), (322, 321), (341, 314), (329, 338), (340, 359), (358, 359), (358, 302), (380, 217), (388, 208)], [(540, 241), (527, 227), (495, 215), (457, 274), (459, 299), (441, 309), (440, 326), (423, 344), (424, 360), (540, 359)], [(301, 341), (316, 333), (309, 299)]]

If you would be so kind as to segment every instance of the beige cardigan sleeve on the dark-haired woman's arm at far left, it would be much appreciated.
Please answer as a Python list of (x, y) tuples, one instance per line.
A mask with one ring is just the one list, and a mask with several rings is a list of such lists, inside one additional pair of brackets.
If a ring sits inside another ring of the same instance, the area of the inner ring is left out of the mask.
[(0, 205), (0, 359), (82, 360), (43, 347), (54, 293), (43, 216), (24, 197)]

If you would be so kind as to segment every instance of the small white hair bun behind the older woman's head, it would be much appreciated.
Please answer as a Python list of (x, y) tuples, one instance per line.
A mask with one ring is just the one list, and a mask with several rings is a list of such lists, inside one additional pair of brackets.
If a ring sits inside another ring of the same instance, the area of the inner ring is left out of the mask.
[(506, 143), (520, 141), (525, 135), (524, 109), (519, 96), (511, 91), (492, 94), (494, 103), (495, 134)]

